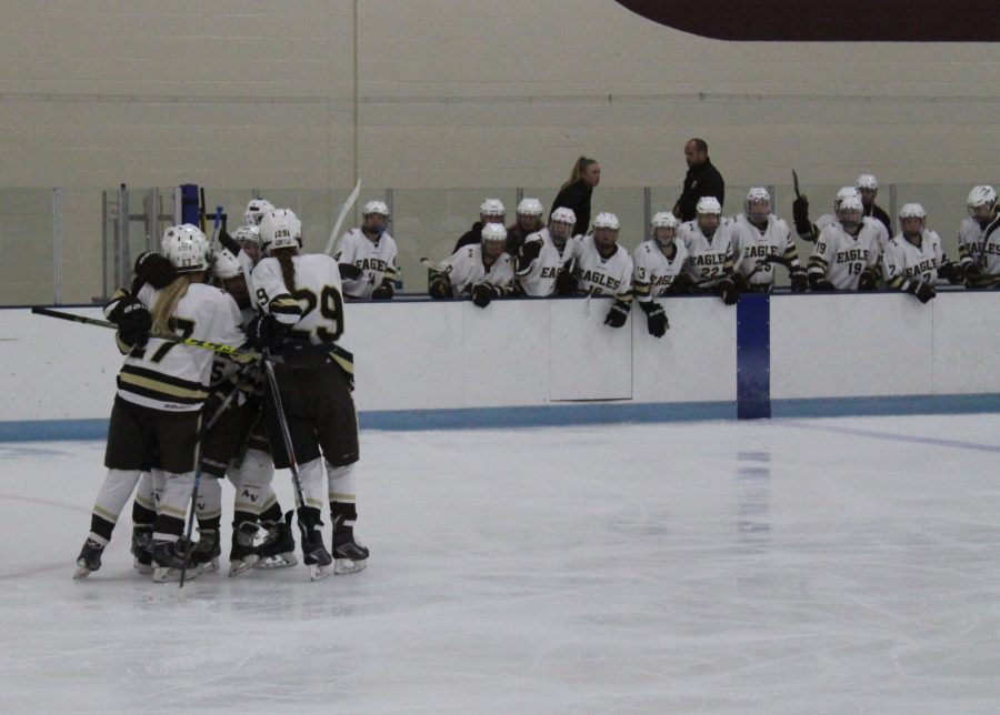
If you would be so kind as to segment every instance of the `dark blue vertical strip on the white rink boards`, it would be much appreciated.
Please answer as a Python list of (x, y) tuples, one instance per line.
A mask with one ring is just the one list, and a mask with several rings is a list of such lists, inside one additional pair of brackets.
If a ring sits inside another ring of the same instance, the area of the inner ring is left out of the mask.
[(771, 416), (771, 306), (768, 295), (737, 303), (737, 416)]

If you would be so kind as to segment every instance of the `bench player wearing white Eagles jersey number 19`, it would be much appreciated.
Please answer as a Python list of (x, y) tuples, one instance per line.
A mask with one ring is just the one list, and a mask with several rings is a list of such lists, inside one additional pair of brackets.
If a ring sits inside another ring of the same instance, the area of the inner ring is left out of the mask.
[(878, 288), (881, 249), (879, 229), (862, 219), (859, 197), (848, 197), (837, 211), (838, 223), (826, 226), (809, 258), (813, 291), (871, 291)]

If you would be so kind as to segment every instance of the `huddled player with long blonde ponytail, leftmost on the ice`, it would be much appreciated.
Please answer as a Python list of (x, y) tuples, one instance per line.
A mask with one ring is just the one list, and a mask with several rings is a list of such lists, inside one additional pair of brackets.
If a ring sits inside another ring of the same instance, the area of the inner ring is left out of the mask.
[[(178, 278), (162, 290), (143, 285), (138, 295), (119, 292), (106, 315), (119, 325), (128, 354), (118, 375), (104, 464), (90, 534), (77, 558), (76, 577), (100, 568), (101, 554), (140, 472), (159, 467), (152, 534), (154, 581), (179, 575), (184, 558), (178, 540), (194, 477), (199, 415), (207, 397), (212, 353), (157, 338), (177, 334), (230, 346), (244, 342), (232, 299), (201, 283), (209, 246), (196, 226), (167, 229), (162, 242)], [(193, 573), (197, 575), (197, 570)]]

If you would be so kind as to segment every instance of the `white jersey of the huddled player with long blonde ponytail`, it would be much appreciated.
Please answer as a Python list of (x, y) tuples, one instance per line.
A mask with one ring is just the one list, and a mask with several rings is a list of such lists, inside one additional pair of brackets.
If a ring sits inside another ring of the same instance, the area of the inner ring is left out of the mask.
[[(163, 291), (149, 284), (137, 298), (156, 308)], [(240, 309), (224, 291), (191, 283), (170, 320), (176, 335), (231, 348), (247, 342)], [(196, 412), (208, 396), (214, 353), (150, 336), (146, 348), (132, 348), (118, 373), (118, 396), (164, 412)]]

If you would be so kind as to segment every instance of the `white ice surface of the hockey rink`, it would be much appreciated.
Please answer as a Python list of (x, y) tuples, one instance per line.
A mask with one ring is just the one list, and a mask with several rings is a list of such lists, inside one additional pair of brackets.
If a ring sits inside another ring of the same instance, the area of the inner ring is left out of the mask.
[(366, 431), (366, 572), (183, 590), (102, 450), (0, 444), (2, 712), (1000, 708), (1000, 415)]

